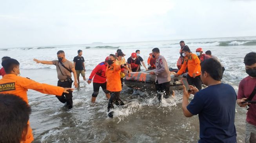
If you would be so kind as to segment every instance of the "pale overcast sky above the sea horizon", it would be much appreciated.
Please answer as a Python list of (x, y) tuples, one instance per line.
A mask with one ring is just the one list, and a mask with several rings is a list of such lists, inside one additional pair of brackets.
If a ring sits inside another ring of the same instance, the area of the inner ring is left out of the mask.
[(1, 0), (0, 48), (256, 36), (256, 0)]

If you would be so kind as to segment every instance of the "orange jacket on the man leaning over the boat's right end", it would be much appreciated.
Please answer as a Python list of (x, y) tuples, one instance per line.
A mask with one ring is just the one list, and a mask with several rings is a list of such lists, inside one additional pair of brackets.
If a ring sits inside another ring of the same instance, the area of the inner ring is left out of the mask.
[(182, 64), (182, 68), (178, 71), (178, 75), (181, 75), (183, 72), (186, 71), (186, 68), (189, 70), (189, 76), (193, 77), (193, 73), (196, 73), (196, 76), (201, 75), (201, 66), (200, 66), (200, 59), (196, 54), (190, 55), (187, 59), (185, 58), (184, 63)]

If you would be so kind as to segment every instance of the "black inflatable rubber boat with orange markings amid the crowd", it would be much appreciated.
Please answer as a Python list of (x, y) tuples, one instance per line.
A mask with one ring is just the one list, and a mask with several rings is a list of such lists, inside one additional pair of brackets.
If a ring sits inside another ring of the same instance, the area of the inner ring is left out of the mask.
[[(169, 68), (170, 71), (175, 71)], [(128, 73), (124, 78), (124, 83), (129, 88), (139, 89), (142, 91), (156, 91), (155, 80), (156, 75), (149, 75), (149, 73), (154, 70), (145, 70), (140, 72)], [(181, 79), (187, 78), (187, 73), (184, 73), (178, 77), (171, 75), (170, 91), (172, 90), (182, 90)]]

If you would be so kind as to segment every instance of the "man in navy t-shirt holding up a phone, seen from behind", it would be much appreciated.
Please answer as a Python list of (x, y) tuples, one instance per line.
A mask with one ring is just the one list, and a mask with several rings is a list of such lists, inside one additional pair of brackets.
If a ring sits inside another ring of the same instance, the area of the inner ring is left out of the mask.
[[(198, 91), (194, 86), (190, 86), (191, 92), (188, 93), (183, 86), (182, 100), (182, 110), (186, 117), (198, 114), (198, 143), (236, 143), (236, 92), (232, 86), (221, 82), (221, 64), (212, 58), (204, 60), (201, 63), (200, 77), (208, 87)], [(194, 98), (189, 103), (190, 94), (193, 94)]]

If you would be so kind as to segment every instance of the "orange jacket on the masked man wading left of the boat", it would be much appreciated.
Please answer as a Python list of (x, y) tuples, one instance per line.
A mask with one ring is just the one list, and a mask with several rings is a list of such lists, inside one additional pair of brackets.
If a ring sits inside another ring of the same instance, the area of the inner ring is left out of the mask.
[(107, 67), (106, 77), (107, 77), (107, 90), (108, 91), (121, 91), (121, 65), (116, 65), (115, 63), (111, 67)]

